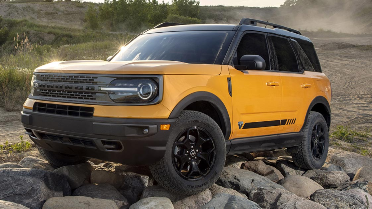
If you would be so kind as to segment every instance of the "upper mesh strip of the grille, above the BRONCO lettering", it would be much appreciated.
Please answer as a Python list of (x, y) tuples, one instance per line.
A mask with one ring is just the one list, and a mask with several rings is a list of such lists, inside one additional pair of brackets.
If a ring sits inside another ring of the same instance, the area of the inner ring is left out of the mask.
[(41, 74), (41, 81), (58, 83), (97, 84), (96, 76)]

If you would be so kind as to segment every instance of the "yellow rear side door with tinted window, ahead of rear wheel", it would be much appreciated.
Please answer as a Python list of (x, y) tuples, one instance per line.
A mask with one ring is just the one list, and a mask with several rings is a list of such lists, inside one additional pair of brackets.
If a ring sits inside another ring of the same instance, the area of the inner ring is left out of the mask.
[[(297, 43), (281, 36), (270, 35), (269, 44), (275, 58), (274, 68), (282, 80), (282, 124), (278, 133), (298, 132), (304, 124), (307, 109), (315, 97), (311, 74), (304, 70)], [(297, 44), (297, 45), (296, 45)], [(300, 47), (301, 48), (301, 47)]]

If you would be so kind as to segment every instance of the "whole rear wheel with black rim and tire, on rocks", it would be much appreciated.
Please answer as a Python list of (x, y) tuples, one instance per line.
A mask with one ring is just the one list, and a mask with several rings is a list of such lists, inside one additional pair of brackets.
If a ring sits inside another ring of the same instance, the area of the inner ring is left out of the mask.
[(310, 112), (305, 128), (304, 138), (297, 154), (292, 154), (296, 165), (305, 169), (319, 169), (327, 159), (329, 135), (327, 122), (318, 112)]

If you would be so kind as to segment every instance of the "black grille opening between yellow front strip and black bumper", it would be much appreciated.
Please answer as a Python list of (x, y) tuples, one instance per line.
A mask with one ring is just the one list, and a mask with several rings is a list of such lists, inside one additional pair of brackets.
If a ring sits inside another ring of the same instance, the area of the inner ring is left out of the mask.
[(81, 107), (71, 105), (56, 105), (35, 102), (33, 112), (42, 112), (56, 115), (69, 115), (78, 117), (93, 117), (94, 107)]

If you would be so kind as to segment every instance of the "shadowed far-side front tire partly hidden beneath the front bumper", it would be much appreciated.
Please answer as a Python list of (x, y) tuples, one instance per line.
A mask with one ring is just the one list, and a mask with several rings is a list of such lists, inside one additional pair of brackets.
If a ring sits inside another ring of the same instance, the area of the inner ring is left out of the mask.
[(47, 149), (41, 148), (39, 146), (37, 147), (38, 147), (38, 150), (41, 156), (45, 160), (47, 160), (50, 164), (58, 166), (58, 167), (85, 163), (89, 160), (89, 158), (86, 158), (86, 157), (67, 155), (67, 154), (62, 154), (59, 152), (52, 152)]

